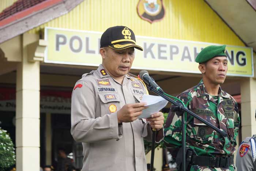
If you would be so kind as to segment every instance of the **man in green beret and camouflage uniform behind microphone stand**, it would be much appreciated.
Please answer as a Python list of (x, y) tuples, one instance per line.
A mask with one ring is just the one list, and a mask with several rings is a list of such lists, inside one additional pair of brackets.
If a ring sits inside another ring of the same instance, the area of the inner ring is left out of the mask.
[[(187, 114), (186, 145), (187, 170), (191, 171), (234, 171), (233, 154), (240, 118), (234, 98), (223, 91), (227, 73), (226, 45), (205, 47), (196, 57), (203, 79), (197, 86), (178, 95), (193, 113), (227, 133), (222, 137), (198, 119)], [(171, 106), (165, 125), (165, 144), (181, 168), (181, 112)], [(180, 160), (179, 160), (180, 159)], [(189, 167), (191, 167), (189, 169)], [(179, 169), (180, 169), (179, 168)]]

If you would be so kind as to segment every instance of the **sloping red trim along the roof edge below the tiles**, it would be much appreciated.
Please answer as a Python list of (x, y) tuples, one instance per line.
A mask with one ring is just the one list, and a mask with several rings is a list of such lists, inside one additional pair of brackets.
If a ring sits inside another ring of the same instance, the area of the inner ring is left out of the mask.
[(46, 1), (41, 2), (41, 3), (39, 3), (39, 4), (37, 4), (33, 7), (27, 8), (24, 11), (17, 12), (16, 14), (1, 20), (0, 21), (0, 27), (3, 27), (7, 24), (10, 24), (10, 23), (12, 23), (16, 20), (25, 18), (26, 16), (31, 15), (33, 12), (38, 12), (38, 11), (41, 11), (42, 9), (45, 9), (45, 8), (51, 7), (53, 5), (56, 5), (56, 4), (58, 4), (62, 1), (63, 0), (46, 0)]

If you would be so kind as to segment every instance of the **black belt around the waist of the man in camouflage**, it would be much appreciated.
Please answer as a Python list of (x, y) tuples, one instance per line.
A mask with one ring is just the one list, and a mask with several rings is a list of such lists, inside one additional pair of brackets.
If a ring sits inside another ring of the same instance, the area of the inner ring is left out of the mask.
[(229, 167), (231, 164), (234, 164), (234, 157), (209, 157), (193, 155), (191, 164), (208, 167)]

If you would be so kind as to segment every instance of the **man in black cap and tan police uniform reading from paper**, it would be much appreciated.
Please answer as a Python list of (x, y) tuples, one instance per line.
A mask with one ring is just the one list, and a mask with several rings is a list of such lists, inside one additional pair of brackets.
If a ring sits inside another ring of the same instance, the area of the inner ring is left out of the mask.
[(146, 171), (143, 138), (152, 139), (151, 128), (163, 132), (164, 117), (138, 118), (147, 90), (128, 72), (134, 48), (143, 49), (125, 26), (108, 28), (100, 46), (102, 65), (84, 74), (72, 92), (71, 134), (83, 145), (82, 171)]

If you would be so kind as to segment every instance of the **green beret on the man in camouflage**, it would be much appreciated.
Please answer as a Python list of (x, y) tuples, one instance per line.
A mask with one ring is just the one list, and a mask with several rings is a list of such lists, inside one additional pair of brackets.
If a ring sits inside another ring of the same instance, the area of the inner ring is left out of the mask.
[(203, 63), (217, 56), (226, 56), (225, 52), (226, 52), (226, 45), (207, 46), (197, 55), (196, 62)]

